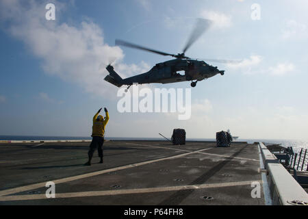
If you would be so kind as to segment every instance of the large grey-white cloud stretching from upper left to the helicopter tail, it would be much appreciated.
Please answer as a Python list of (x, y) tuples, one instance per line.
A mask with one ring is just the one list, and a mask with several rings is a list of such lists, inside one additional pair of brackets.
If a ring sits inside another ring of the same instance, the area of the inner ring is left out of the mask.
[[(55, 7), (59, 12), (65, 5), (56, 1)], [(105, 44), (101, 27), (88, 19), (73, 26), (57, 21), (59, 16), (56, 21), (47, 21), (45, 12), (44, 4), (37, 1), (0, 1), (1, 21), (9, 26), (12, 36), (25, 42), (42, 60), (45, 73), (77, 83), (99, 96), (114, 94), (117, 88), (103, 78), (107, 64), (123, 59), (120, 47)], [(127, 76), (127, 71), (130, 74), (135, 68), (138, 66), (122, 64), (122, 75)]]

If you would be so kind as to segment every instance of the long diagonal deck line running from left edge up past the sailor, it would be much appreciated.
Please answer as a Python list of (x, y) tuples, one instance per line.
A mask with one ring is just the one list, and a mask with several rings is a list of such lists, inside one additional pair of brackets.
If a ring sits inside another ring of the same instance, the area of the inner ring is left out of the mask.
[[(205, 151), (205, 150), (206, 149), (201, 149), (201, 150), (198, 150), (198, 151), (192, 151), (192, 152), (189, 152), (189, 153), (182, 153), (180, 155), (175, 155), (175, 156), (171, 156), (171, 157), (152, 159), (152, 160), (149, 160), (149, 161), (146, 161), (146, 162), (140, 162), (140, 163), (137, 163), (137, 164), (128, 164), (128, 165), (125, 165), (125, 166), (119, 166), (119, 167), (111, 168), (111, 169), (107, 169), (107, 170), (99, 170), (99, 171), (96, 171), (96, 172), (89, 172), (89, 173), (86, 173), (86, 174), (83, 174), (83, 175), (77, 175), (77, 176), (74, 176), (74, 177), (65, 177), (65, 178), (62, 178), (62, 179), (53, 180), (53, 182), (55, 184), (66, 183), (68, 181), (74, 181), (74, 180), (77, 180), (77, 179), (94, 177), (94, 176), (101, 175), (101, 174), (104, 174), (104, 173), (107, 173), (107, 172), (114, 172), (114, 171), (118, 171), (118, 170), (124, 170), (124, 169), (127, 169), (127, 168), (132, 168), (132, 167), (135, 167), (135, 166), (142, 166), (142, 165), (145, 165), (145, 164), (160, 162), (160, 161), (163, 161), (163, 160), (166, 160), (166, 159), (175, 159), (175, 158), (178, 158), (178, 157), (183, 157), (185, 155), (190, 155), (192, 153), (198, 153), (198, 152)], [(8, 190), (2, 190), (2, 191), (0, 191), (0, 196), (5, 196), (5, 195), (8, 195), (8, 194), (14, 194), (14, 193), (18, 193), (18, 192), (24, 192), (24, 191), (27, 191), (27, 190), (34, 190), (34, 189), (37, 189), (37, 188), (42, 188), (46, 185), (46, 183), (47, 182), (35, 183), (35, 184), (25, 185), (25, 186), (12, 188), (12, 189), (8, 189)]]

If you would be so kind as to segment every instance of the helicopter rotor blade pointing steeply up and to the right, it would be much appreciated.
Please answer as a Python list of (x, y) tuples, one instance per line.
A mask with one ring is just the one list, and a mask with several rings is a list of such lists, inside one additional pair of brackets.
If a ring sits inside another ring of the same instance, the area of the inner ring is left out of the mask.
[(211, 21), (208, 19), (198, 18), (196, 22), (196, 26), (194, 27), (192, 34), (190, 34), (190, 38), (188, 38), (188, 42), (186, 43), (183, 53), (190, 48), (190, 46), (198, 40), (198, 38), (207, 30), (211, 25)]

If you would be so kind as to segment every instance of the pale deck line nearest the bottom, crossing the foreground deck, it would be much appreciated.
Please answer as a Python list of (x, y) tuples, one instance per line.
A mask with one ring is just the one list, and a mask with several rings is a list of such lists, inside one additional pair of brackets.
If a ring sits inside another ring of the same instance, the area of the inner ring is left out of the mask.
[[(162, 188), (139, 188), (139, 189), (127, 189), (127, 190), (105, 190), (105, 191), (90, 191), (90, 192), (67, 192), (55, 194), (55, 198), (77, 198), (77, 197), (90, 197), (90, 196), (109, 196), (120, 194), (139, 194), (149, 192), (169, 192), (177, 190), (199, 190), (206, 188), (222, 188), (229, 186), (239, 185), (251, 185), (255, 181), (238, 181), (230, 183), (210, 183), (210, 184), (198, 184), (198, 185), (177, 185)], [(258, 181), (261, 183), (261, 181)], [(46, 198), (45, 194), (27, 194), (16, 196), (0, 196), (0, 201), (25, 201), (36, 199), (50, 199)]]

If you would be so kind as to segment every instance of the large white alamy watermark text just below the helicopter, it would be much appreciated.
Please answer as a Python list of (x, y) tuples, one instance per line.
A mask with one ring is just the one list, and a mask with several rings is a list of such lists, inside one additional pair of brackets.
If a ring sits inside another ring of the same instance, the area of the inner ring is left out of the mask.
[(117, 104), (118, 112), (130, 113), (178, 113), (179, 120), (188, 120), (192, 114), (190, 88), (150, 88), (133, 86), (132, 92), (120, 88), (116, 94), (122, 97)]

